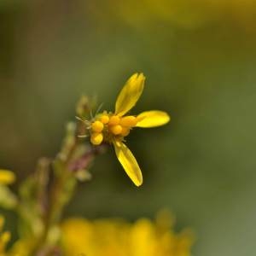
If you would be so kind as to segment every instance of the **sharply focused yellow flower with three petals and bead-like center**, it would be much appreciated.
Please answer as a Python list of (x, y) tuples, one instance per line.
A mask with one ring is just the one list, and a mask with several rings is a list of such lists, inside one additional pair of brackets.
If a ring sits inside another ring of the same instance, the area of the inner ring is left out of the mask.
[(113, 144), (115, 154), (125, 172), (133, 183), (140, 186), (143, 175), (137, 160), (124, 140), (133, 127), (156, 127), (165, 125), (170, 117), (166, 112), (151, 110), (136, 115), (125, 115), (135, 106), (143, 93), (145, 77), (143, 73), (135, 73), (126, 82), (115, 102), (115, 111), (98, 113), (90, 122), (90, 142), (94, 145), (101, 143)]

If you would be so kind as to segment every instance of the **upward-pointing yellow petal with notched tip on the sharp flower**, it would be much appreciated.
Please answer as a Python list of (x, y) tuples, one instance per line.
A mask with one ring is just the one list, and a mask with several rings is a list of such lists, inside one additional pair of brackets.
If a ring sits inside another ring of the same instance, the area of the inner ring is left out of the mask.
[(123, 116), (133, 108), (143, 93), (145, 77), (143, 73), (135, 73), (125, 83), (115, 102), (115, 114)]

